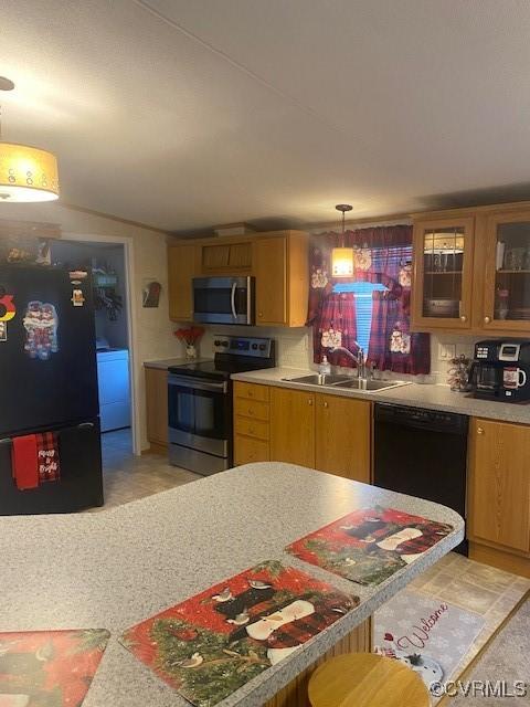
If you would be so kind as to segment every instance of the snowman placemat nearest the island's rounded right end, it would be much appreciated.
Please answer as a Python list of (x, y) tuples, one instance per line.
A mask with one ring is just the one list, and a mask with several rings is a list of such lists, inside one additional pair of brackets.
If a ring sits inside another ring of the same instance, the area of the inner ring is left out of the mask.
[(286, 550), (359, 584), (380, 584), (452, 530), (443, 523), (375, 506), (350, 513)]

